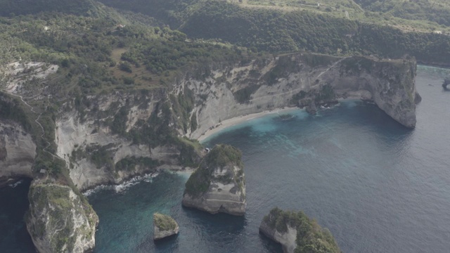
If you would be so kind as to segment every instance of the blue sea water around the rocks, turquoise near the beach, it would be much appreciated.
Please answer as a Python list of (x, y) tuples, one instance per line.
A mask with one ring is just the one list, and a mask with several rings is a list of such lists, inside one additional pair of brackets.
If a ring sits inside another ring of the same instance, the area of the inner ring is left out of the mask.
[[(243, 151), (245, 216), (181, 207), (187, 173), (162, 172), (89, 195), (100, 217), (94, 252), (282, 252), (259, 235), (272, 207), (302, 209), (344, 252), (450, 252), (450, 70), (418, 67), (416, 129), (375, 105), (347, 100), (232, 126), (205, 145)], [(23, 214), (29, 182), (0, 189), (0, 252), (32, 252)], [(19, 189), (19, 190), (17, 190)], [(179, 235), (153, 242), (153, 213)], [(6, 250), (5, 250), (6, 249)]]

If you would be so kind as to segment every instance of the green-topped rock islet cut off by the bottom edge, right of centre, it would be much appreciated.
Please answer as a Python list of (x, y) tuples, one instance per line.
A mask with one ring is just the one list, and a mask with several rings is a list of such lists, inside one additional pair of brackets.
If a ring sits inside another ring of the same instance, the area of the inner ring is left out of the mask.
[[(283, 252), (340, 253), (333, 235), (303, 212), (271, 209), (259, 226), (259, 232), (283, 246)], [(298, 237), (298, 238), (297, 238)]]

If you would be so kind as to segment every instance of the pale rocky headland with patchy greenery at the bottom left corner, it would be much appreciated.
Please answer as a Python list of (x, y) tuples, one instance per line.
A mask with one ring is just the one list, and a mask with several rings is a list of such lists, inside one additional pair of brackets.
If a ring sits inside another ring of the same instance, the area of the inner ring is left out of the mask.
[(95, 246), (98, 216), (72, 188), (34, 181), (27, 230), (41, 253), (84, 253)]

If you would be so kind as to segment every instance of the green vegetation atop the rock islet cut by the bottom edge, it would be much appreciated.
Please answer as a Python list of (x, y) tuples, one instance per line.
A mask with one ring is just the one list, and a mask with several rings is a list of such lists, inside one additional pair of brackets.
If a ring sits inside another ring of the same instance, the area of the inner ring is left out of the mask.
[(264, 222), (280, 233), (288, 231), (288, 226), (297, 229), (297, 248), (295, 253), (340, 253), (338, 243), (326, 228), (321, 228), (317, 221), (309, 219), (304, 212), (283, 211), (278, 207), (271, 209), (264, 216)]

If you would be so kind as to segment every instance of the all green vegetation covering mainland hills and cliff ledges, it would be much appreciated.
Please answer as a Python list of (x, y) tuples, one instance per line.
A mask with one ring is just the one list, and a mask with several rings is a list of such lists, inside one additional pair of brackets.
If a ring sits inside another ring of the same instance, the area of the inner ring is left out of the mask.
[[(384, 58), (411, 55), (425, 63), (450, 65), (450, 29), (446, 27), (449, 20), (445, 14), (449, 4), (444, 0), (323, 0), (321, 6), (313, 0), (257, 0), (241, 4), (203, 0), (102, 2), (122, 11), (94, 0), (76, 4), (68, 0), (0, 0), (2, 72), (15, 61), (60, 66), (46, 80), (30, 79), (23, 84), (23, 91), (27, 92), (24, 98), (33, 112), (17, 98), (2, 96), (0, 117), (19, 122), (32, 134), (38, 146), (35, 172), (46, 169), (69, 184), (65, 162), (54, 155), (55, 121), (63, 110), (75, 107), (81, 121), (87, 116), (95, 118), (99, 127), (107, 126), (113, 134), (134, 144), (175, 147), (181, 153), (180, 164), (197, 167), (200, 145), (179, 135), (198, 128), (193, 109), (202, 102), (195, 100), (188, 87), (175, 92), (173, 84), (179, 79), (205, 81), (214, 70), (255, 59), (256, 64), (263, 65), (267, 56), (264, 51), (279, 56), (276, 66), (263, 76), (269, 85), (298, 70), (300, 66), (283, 54), (292, 51), (336, 56), (373, 54)], [(311, 67), (328, 65), (332, 59), (325, 55), (302, 57)], [(358, 64), (349, 63), (342, 71), (356, 68), (371, 70), (361, 58)], [(225, 71), (216, 81), (226, 82), (227, 74)], [(255, 79), (259, 75), (250, 73)], [(2, 86), (8, 78), (8, 74), (1, 75)], [(258, 88), (259, 84), (249, 83), (233, 95), (239, 103), (248, 103)], [(136, 98), (142, 100), (117, 101), (102, 111), (90, 99), (92, 95), (108, 96), (111, 92), (141, 94)], [(299, 93), (293, 100), (303, 97)], [(319, 100), (333, 98), (333, 89), (327, 85), (316, 96)], [(147, 107), (150, 100), (158, 100), (150, 117), (129, 129), (129, 110), (135, 105)], [(38, 117), (39, 124), (35, 121)], [(107, 164), (111, 171), (131, 169), (136, 164), (155, 166), (153, 161), (132, 158), (113, 164), (113, 151), (109, 148), (88, 147), (77, 150), (79, 154), (72, 157), (86, 155), (97, 167)], [(215, 154), (218, 162), (230, 162), (221, 159), (233, 154), (224, 154)], [(239, 155), (234, 157), (240, 160)]]

